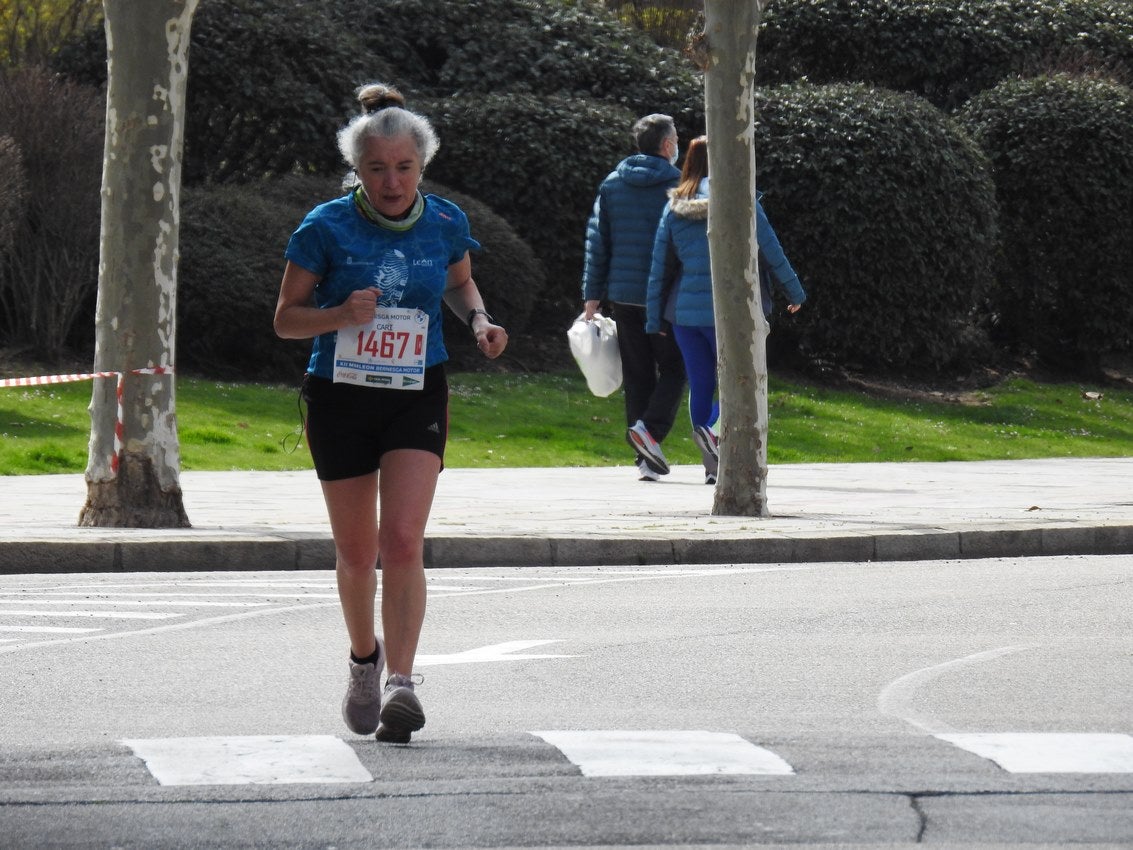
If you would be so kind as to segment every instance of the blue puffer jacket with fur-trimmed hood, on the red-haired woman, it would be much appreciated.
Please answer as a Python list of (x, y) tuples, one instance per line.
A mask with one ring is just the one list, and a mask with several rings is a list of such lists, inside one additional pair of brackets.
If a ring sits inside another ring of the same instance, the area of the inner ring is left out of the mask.
[[(783, 246), (758, 198), (756, 240), (759, 244), (760, 270), (768, 272), (782, 287), (791, 304), (806, 301), (807, 294), (799, 275), (783, 253)], [(763, 281), (760, 287), (764, 316), (770, 315), (768, 286)], [(708, 178), (700, 181), (695, 198), (670, 201), (657, 226), (646, 298), (646, 332), (661, 331), (663, 320), (702, 328), (716, 324), (708, 256)]]

